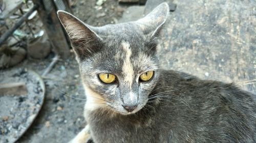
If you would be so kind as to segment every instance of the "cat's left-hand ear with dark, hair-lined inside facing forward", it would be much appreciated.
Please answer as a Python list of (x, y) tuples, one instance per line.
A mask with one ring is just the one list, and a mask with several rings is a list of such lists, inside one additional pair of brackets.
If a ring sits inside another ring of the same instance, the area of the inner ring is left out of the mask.
[(101, 38), (96, 34), (95, 27), (83, 23), (68, 12), (59, 10), (57, 14), (79, 60), (98, 50)]

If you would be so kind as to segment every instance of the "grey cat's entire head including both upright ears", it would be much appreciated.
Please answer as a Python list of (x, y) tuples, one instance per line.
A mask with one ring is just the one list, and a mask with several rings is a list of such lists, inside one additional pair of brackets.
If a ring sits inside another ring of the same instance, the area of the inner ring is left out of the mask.
[(159, 78), (156, 50), (168, 12), (163, 3), (137, 21), (93, 27), (58, 11), (79, 63), (86, 109), (126, 115), (147, 103)]

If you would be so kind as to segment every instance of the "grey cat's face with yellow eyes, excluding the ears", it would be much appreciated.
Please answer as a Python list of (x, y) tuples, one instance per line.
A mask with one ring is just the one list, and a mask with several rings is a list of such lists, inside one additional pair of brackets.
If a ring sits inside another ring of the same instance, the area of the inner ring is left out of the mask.
[[(88, 108), (102, 103), (126, 114), (136, 112), (146, 104), (159, 76), (158, 58), (155, 51), (148, 51), (148, 45), (126, 40), (109, 40), (117, 43), (102, 45), (102, 50), (80, 62), (81, 77), (89, 99)], [(145, 49), (148, 53), (144, 52)], [(90, 97), (92, 95), (105, 101)]]

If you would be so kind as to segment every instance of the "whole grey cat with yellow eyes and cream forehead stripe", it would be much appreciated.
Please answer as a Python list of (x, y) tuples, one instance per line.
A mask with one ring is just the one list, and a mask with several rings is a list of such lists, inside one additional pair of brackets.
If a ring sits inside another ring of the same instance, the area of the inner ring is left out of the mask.
[(73, 142), (256, 142), (253, 94), (233, 83), (159, 68), (169, 8), (94, 27), (58, 11), (86, 92), (87, 126)]

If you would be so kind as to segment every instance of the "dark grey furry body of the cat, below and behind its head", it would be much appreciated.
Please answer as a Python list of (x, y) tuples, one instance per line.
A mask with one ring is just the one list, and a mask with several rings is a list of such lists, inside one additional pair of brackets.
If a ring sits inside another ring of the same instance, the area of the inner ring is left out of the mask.
[(253, 95), (233, 84), (161, 70), (153, 91), (130, 116), (87, 112), (95, 142), (256, 142)]

